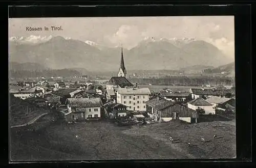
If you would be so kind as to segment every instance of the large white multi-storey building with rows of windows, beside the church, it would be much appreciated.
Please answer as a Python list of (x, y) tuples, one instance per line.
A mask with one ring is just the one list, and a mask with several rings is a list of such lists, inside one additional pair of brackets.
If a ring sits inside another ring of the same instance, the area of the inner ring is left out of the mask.
[(146, 111), (150, 94), (148, 88), (118, 88), (117, 103), (128, 106), (128, 110)]

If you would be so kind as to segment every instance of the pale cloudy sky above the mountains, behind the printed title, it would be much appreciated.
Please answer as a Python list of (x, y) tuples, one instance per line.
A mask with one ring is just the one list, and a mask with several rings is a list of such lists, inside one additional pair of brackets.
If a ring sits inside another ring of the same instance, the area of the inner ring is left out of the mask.
[[(61, 26), (62, 31), (26, 31), (27, 26)], [(233, 16), (9, 18), (9, 37), (31, 35), (59, 35), (110, 47), (122, 44), (127, 49), (146, 37), (195, 38), (214, 44), (234, 58)]]

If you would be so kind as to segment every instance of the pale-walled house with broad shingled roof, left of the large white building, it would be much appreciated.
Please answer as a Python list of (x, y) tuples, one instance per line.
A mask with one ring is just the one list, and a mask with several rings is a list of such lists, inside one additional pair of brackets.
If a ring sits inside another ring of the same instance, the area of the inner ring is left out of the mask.
[(100, 118), (102, 107), (100, 98), (68, 98), (67, 105), (68, 113), (65, 114), (67, 122)]

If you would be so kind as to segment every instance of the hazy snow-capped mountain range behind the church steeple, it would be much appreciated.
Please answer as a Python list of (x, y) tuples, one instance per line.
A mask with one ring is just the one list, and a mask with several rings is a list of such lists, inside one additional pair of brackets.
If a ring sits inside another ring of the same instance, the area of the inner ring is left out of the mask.
[[(39, 64), (50, 69), (75, 68), (98, 72), (119, 69), (120, 47), (106, 47), (91, 41), (83, 42), (61, 36), (38, 38), (37, 42), (31, 43), (24, 39), (27, 38), (10, 38), (11, 62)], [(123, 48), (123, 55), (127, 71), (178, 70), (197, 65), (212, 68), (233, 62), (214, 45), (194, 39), (147, 38), (130, 50)], [(17, 66), (12, 64), (12, 67)], [(28, 66), (20, 68), (26, 69)]]

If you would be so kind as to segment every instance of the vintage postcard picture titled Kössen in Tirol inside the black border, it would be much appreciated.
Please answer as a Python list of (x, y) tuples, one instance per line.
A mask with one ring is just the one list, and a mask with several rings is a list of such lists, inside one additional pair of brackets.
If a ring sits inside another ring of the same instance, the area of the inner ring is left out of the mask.
[(236, 158), (233, 16), (9, 18), (10, 161)]

